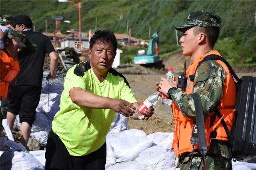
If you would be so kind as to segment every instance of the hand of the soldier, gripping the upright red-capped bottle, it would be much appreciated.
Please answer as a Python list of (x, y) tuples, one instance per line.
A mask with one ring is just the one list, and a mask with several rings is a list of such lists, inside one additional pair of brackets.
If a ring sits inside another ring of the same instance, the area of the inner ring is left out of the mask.
[(164, 94), (167, 96), (167, 92), (172, 87), (177, 87), (178, 83), (177, 81), (169, 81), (164, 77), (161, 77), (161, 81), (158, 83), (156, 82), (156, 91)]

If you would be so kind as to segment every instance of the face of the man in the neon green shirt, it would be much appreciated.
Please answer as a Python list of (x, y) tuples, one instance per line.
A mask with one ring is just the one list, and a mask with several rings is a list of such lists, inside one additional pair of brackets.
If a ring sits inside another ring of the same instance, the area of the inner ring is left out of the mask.
[(111, 42), (97, 40), (92, 50), (89, 49), (88, 56), (91, 67), (102, 73), (112, 66), (116, 53)]

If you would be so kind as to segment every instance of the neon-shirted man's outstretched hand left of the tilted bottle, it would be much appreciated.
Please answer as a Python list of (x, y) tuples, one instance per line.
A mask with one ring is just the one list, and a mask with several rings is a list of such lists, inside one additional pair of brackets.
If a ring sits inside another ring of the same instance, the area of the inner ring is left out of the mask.
[(136, 109), (136, 107), (122, 99), (112, 99), (110, 109), (124, 115), (125, 117), (129, 117), (132, 116), (133, 113), (135, 113), (134, 110)]

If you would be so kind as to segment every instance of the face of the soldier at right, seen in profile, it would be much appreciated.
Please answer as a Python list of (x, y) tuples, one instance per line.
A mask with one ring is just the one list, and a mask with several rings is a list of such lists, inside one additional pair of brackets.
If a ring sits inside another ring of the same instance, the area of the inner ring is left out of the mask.
[(182, 54), (185, 56), (192, 56), (194, 51), (198, 48), (198, 36), (194, 35), (194, 27), (185, 30), (183, 36), (180, 38), (180, 45), (182, 47)]

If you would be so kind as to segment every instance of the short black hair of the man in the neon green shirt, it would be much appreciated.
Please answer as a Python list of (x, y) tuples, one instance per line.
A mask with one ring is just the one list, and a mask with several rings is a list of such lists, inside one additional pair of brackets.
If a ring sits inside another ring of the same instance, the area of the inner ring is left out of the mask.
[(99, 43), (102, 43), (104, 41), (112, 43), (114, 46), (114, 50), (116, 53), (117, 49), (117, 42), (116, 42), (116, 36), (112, 31), (109, 30), (96, 30), (92, 38), (90, 39), (90, 50), (92, 50), (93, 45), (97, 42), (97, 40), (100, 40)]

